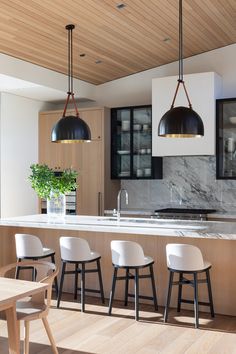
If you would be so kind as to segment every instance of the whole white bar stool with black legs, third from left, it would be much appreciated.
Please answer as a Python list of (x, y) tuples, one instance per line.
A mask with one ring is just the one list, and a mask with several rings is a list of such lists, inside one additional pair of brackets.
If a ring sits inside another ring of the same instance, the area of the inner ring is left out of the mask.
[[(135, 298), (135, 320), (139, 320), (139, 299), (153, 300), (155, 310), (158, 310), (157, 305), (157, 295), (155, 287), (155, 279), (153, 274), (153, 264), (154, 260), (145, 256), (142, 247), (132, 241), (111, 241), (111, 254), (112, 254), (112, 264), (114, 267), (114, 274), (112, 279), (112, 289), (110, 292), (109, 310), (108, 313), (111, 315), (112, 303), (115, 293), (115, 286), (117, 280), (125, 280), (125, 306), (128, 304), (128, 297)], [(139, 270), (149, 267), (149, 274), (140, 275)], [(118, 269), (122, 268), (126, 270), (125, 276), (117, 276)], [(135, 275), (130, 273), (130, 270), (134, 270)], [(152, 285), (153, 296), (142, 296), (139, 295), (139, 279), (150, 278)], [(134, 279), (135, 281), (135, 294), (129, 294), (129, 280)]]

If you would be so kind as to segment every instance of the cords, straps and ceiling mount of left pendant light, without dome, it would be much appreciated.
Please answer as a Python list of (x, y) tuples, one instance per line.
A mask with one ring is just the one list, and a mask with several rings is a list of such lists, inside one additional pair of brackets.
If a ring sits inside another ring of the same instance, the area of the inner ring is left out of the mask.
[(70, 101), (70, 98), (72, 99), (72, 102), (75, 107), (75, 112), (76, 116), (79, 117), (79, 111), (75, 102), (74, 98), (74, 88), (73, 88), (73, 29), (75, 28), (74, 25), (67, 25), (66, 29), (68, 31), (68, 91), (67, 91), (67, 99), (63, 111), (63, 117), (66, 116), (66, 110), (68, 103)]

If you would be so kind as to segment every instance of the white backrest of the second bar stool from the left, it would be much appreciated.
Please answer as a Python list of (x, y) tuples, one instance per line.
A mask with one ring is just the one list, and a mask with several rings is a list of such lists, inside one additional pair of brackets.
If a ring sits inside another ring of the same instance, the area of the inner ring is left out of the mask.
[(94, 258), (89, 244), (83, 238), (60, 237), (61, 259), (71, 262), (83, 262)]

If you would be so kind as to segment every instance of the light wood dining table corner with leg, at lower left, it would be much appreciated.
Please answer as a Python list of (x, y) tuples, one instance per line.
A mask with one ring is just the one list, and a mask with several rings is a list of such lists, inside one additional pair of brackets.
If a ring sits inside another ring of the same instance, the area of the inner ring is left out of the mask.
[(0, 277), (0, 311), (5, 311), (6, 315), (9, 354), (20, 354), (16, 302), (26, 296), (42, 292), (47, 287), (48, 284)]

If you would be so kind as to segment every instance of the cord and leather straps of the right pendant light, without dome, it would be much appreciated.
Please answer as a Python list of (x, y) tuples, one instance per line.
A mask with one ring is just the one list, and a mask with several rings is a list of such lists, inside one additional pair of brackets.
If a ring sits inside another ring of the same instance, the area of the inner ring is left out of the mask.
[(184, 78), (183, 67), (184, 67), (184, 65), (183, 65), (183, 4), (182, 4), (182, 0), (179, 0), (179, 79), (178, 79), (178, 84), (177, 84), (177, 87), (175, 90), (174, 98), (173, 98), (173, 101), (171, 104), (171, 109), (174, 108), (175, 99), (176, 99), (180, 84), (183, 85), (184, 92), (185, 92), (187, 100), (188, 100), (189, 108), (192, 108), (192, 104), (190, 102), (188, 92), (187, 92), (187, 89), (185, 87), (185, 83), (183, 80), (183, 78)]

